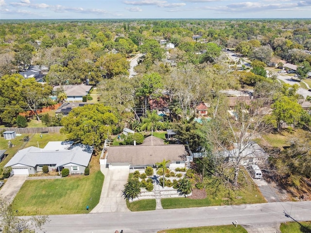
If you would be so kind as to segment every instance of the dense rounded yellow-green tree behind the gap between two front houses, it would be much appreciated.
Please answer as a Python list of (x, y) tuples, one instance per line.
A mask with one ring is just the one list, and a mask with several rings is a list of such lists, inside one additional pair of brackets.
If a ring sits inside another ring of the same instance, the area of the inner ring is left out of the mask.
[(86, 104), (74, 108), (67, 117), (61, 119), (64, 126), (61, 133), (69, 140), (99, 147), (119, 122), (111, 107), (103, 104)]

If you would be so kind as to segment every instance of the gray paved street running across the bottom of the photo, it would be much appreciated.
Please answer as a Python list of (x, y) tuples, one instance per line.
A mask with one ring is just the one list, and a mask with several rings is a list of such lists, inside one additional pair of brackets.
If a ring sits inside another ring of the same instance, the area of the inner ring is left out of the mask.
[(283, 211), (298, 221), (311, 220), (311, 201), (273, 202), (252, 205), (212, 206), (144, 212), (100, 213), (50, 216), (48, 233), (156, 233), (184, 227), (228, 225), (270, 226), (290, 221)]

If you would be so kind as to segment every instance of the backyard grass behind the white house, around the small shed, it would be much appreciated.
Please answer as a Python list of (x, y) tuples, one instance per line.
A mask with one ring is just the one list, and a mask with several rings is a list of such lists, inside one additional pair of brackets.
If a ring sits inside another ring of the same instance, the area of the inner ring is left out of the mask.
[[(24, 142), (24, 136), (29, 136), (29, 142)], [(17, 136), (12, 139), (14, 147), (8, 148), (8, 141), (5, 140), (4, 137), (0, 137), (0, 150), (6, 150), (8, 156), (0, 163), (0, 168), (6, 165), (7, 162), (16, 154), (17, 150), (22, 149), (21, 146), (25, 143), (24, 148), (35, 146), (37, 147), (39, 144), (40, 148), (44, 148), (49, 141), (63, 141), (66, 140), (66, 135), (60, 133), (46, 133), (42, 134), (42, 138), (40, 137), (40, 133), (35, 133), (32, 137), (32, 134), (23, 133), (21, 136)]]

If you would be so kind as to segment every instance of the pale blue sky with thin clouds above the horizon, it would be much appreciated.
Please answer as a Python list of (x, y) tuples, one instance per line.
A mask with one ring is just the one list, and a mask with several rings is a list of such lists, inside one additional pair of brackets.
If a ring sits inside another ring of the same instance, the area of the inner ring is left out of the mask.
[(0, 19), (310, 17), (311, 0), (0, 0)]

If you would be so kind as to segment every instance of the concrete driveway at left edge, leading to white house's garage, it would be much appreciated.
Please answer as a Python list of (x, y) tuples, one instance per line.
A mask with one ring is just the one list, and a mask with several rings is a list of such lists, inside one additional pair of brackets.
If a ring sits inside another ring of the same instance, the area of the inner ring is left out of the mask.
[(10, 202), (15, 198), (17, 192), (26, 181), (27, 175), (14, 175), (0, 189), (0, 195)]

